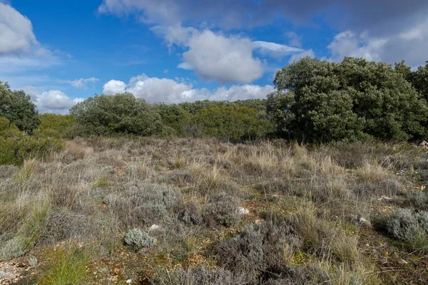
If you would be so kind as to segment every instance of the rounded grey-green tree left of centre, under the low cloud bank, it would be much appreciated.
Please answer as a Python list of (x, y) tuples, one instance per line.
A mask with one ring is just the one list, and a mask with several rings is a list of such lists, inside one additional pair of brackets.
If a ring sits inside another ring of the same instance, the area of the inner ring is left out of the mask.
[(82, 135), (153, 135), (162, 129), (156, 108), (131, 93), (96, 95), (74, 105), (70, 113)]

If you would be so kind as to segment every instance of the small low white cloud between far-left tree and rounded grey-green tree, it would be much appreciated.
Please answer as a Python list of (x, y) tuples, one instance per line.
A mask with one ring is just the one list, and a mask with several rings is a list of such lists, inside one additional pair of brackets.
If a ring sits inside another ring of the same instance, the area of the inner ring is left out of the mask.
[(73, 105), (84, 100), (83, 98), (71, 98), (60, 90), (43, 91), (31, 86), (22, 89), (31, 95), (31, 100), (37, 105), (40, 113), (65, 115)]

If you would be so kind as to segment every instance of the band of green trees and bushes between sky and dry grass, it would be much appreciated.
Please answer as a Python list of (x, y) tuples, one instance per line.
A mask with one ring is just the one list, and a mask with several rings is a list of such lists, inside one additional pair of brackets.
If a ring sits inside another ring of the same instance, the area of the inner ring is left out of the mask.
[[(148, 104), (131, 93), (95, 95), (70, 115), (39, 115), (30, 96), (0, 81), (0, 163), (61, 138), (93, 135), (277, 137), (300, 142), (428, 138), (428, 62), (412, 69), (345, 58), (302, 60), (278, 71), (267, 99)], [(21, 145), (21, 142), (23, 145)], [(28, 146), (28, 147), (27, 147)], [(5, 153), (9, 158), (4, 158)]]

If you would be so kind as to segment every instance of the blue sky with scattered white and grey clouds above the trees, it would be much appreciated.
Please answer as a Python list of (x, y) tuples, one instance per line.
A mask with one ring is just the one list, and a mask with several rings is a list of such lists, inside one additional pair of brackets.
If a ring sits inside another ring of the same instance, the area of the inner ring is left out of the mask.
[(125, 91), (149, 103), (265, 98), (303, 56), (416, 67), (427, 46), (425, 0), (0, 0), (0, 81), (41, 113)]

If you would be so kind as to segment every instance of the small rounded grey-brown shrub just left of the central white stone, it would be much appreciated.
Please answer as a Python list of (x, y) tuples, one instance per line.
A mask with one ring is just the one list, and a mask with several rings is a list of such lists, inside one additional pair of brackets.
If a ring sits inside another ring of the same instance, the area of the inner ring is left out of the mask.
[(208, 224), (214, 221), (225, 227), (233, 227), (240, 222), (241, 216), (235, 199), (225, 193), (220, 193), (210, 199), (205, 208), (203, 219)]

